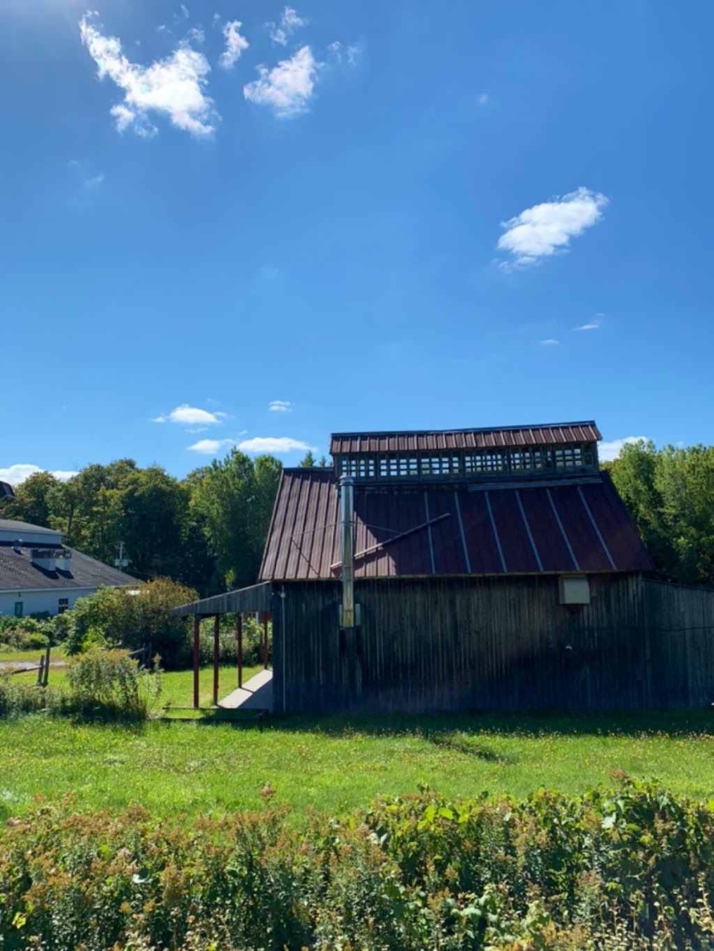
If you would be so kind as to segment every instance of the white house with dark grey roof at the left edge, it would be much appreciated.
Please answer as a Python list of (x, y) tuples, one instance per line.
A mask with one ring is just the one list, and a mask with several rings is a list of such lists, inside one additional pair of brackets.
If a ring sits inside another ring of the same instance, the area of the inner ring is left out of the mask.
[(62, 544), (62, 533), (0, 518), (0, 614), (61, 614), (97, 588), (137, 584), (129, 574)]

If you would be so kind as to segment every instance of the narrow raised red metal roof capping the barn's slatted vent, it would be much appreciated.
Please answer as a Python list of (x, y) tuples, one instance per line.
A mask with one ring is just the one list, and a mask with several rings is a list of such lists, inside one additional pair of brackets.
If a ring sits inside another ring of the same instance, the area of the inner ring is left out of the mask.
[(333, 433), (332, 456), (350, 453), (424, 452), (440, 449), (490, 449), (498, 446), (552, 446), (602, 439), (595, 423), (564, 422), (540, 426), (455, 429), (439, 432)]

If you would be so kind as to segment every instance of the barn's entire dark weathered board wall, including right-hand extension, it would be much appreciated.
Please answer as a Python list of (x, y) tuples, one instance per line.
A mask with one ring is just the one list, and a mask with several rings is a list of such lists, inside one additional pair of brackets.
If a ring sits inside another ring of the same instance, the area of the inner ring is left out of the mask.
[(359, 691), (352, 645), (337, 628), (339, 584), (286, 584), (285, 598), (273, 602), (274, 709), (613, 709), (714, 700), (714, 592), (636, 575), (591, 576), (590, 588), (589, 605), (564, 606), (558, 579), (547, 575), (358, 582)]

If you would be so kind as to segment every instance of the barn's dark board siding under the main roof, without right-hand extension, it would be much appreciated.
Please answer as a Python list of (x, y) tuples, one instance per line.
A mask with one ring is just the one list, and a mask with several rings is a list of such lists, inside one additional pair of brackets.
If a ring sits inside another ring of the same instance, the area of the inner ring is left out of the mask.
[[(642, 583), (591, 584), (589, 606), (566, 608), (552, 577), (357, 582), (362, 708), (644, 706)], [(340, 708), (339, 585), (286, 592), (288, 709)]]

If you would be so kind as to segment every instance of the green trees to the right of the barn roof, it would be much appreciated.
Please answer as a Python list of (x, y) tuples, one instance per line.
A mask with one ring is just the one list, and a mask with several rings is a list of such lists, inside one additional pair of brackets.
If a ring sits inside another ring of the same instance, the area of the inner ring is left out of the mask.
[(714, 585), (714, 446), (625, 445), (608, 469), (660, 571)]

